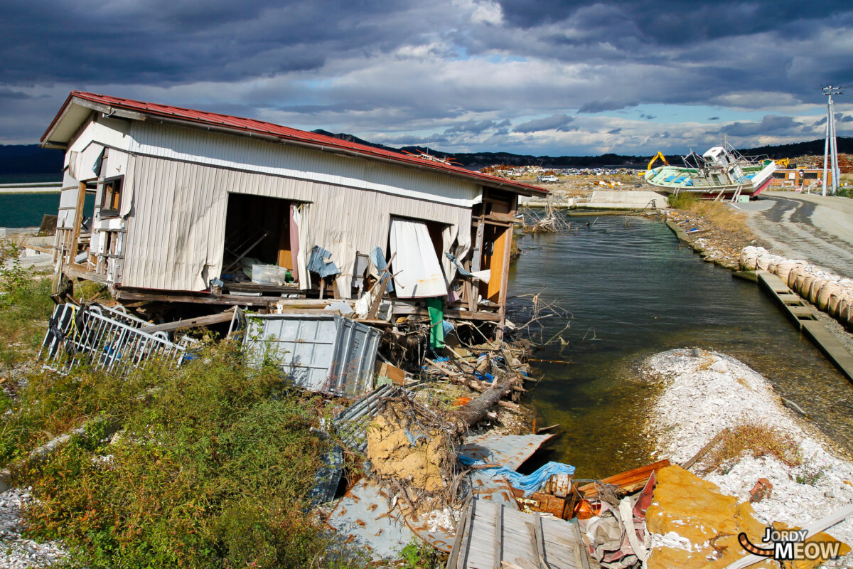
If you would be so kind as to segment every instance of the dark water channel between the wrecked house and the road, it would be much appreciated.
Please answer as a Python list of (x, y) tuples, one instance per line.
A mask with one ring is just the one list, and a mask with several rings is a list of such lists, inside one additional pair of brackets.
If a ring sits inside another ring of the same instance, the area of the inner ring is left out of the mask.
[[(568, 235), (523, 235), (510, 308), (541, 293), (572, 312), (571, 328), (534, 357), (543, 374), (529, 398), (540, 426), (560, 423), (547, 460), (597, 478), (656, 460), (642, 436), (656, 387), (636, 382), (642, 360), (677, 347), (737, 357), (853, 453), (853, 386), (751, 282), (679, 247), (642, 218), (571, 218)], [(589, 222), (589, 226), (587, 225)], [(512, 318), (512, 316), (511, 316)], [(543, 321), (543, 337), (566, 325)], [(756, 417), (761, 421), (761, 417)]]

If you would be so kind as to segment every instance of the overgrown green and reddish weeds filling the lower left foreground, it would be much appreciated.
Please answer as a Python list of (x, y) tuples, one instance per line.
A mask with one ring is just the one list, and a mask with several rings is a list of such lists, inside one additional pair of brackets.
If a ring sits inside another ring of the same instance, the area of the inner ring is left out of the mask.
[[(3, 282), (32, 298), (4, 295), (0, 321), (49, 312), (36, 310), (47, 299), (38, 282)], [(275, 366), (247, 366), (230, 342), (206, 345), (181, 368), (152, 363), (127, 377), (31, 372), (0, 408), (0, 467), (36, 498), (28, 535), (60, 540), (72, 566), (364, 564), (307, 513), (327, 444), (311, 428), (322, 400)], [(38, 444), (84, 423), (84, 436), (28, 462)]]

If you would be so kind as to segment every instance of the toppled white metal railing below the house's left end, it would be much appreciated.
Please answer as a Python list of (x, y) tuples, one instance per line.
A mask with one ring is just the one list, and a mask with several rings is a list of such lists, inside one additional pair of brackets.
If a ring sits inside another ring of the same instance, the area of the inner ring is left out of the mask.
[(186, 361), (185, 343), (174, 344), (162, 332), (142, 332), (146, 324), (106, 306), (57, 305), (39, 357), (45, 368), (63, 374), (80, 363), (124, 374), (152, 358), (168, 366)]

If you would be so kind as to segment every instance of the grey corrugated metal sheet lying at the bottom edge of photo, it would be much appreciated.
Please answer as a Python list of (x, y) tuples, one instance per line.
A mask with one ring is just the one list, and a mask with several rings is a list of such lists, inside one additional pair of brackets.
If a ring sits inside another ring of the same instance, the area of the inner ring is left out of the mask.
[(577, 520), (524, 514), (473, 500), (456, 530), (448, 569), (494, 567), (589, 569)]

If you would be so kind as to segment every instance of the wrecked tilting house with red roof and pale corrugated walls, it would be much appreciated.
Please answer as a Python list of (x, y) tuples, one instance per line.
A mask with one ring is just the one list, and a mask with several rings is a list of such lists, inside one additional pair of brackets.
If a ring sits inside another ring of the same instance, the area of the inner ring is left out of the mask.
[(389, 317), (427, 316), (437, 301), (425, 299), (440, 299), (443, 317), (500, 334), (518, 196), (547, 194), (432, 157), (78, 91), (41, 144), (65, 151), (56, 272), (125, 303), (353, 305), (372, 270), (371, 317), (375, 297)]

